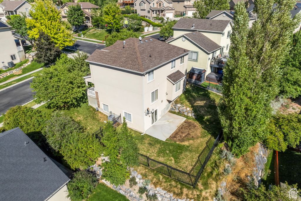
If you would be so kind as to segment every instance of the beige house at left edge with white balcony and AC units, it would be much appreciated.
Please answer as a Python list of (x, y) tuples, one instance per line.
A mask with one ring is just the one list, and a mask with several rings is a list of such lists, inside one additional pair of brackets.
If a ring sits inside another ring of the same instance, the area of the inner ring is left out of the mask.
[[(16, 41), (17, 40), (17, 43)], [(20, 42), (20, 38), (11, 33), (11, 26), (0, 21), (0, 65), (5, 66), (12, 61), (19, 63), (25, 59), (24, 49)]]

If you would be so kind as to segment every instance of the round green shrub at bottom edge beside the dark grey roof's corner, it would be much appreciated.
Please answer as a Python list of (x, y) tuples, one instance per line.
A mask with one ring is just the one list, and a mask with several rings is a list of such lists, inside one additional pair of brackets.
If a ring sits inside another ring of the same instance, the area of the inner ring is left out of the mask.
[(88, 198), (98, 183), (96, 173), (82, 170), (74, 173), (73, 179), (67, 184), (68, 196), (71, 201), (81, 201)]

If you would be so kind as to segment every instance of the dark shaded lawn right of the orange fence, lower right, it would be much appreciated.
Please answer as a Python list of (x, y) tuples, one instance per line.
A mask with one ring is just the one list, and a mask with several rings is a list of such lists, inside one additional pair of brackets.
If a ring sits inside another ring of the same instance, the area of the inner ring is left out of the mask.
[(301, 189), (301, 153), (287, 149), (285, 152), (278, 152), (279, 180), (289, 185), (298, 183)]

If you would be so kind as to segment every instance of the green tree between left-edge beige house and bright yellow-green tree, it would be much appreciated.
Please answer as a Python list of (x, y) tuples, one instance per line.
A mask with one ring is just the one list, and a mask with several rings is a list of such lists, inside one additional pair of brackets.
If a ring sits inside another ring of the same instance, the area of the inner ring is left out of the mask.
[(34, 40), (33, 38), (28, 36), (28, 30), (29, 28), (26, 26), (26, 15), (24, 13), (21, 13), (21, 15), (16, 15), (16, 17), (12, 18), (11, 20), (7, 21), (7, 24), (9, 24), (12, 27), (12, 30), (15, 31), (15, 33), (19, 34), (21, 38), (24, 40), (27, 40), (32, 46), (33, 50), (34, 48)]

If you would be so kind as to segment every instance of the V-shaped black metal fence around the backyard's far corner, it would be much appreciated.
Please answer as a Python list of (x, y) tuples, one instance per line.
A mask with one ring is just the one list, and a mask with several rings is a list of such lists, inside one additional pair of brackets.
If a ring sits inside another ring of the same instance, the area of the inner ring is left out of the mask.
[(172, 179), (178, 180), (182, 183), (186, 183), (195, 188), (207, 162), (209, 161), (209, 158), (211, 157), (221, 137), (222, 131), (219, 133), (219, 136), (217, 136), (216, 140), (214, 140), (213, 136), (211, 136), (208, 139), (205, 148), (198, 156), (197, 162), (194, 164), (189, 173), (182, 170), (178, 170), (176, 168), (172, 168), (167, 164), (151, 159), (143, 154), (140, 154), (139, 156), (139, 163), (152, 170), (165, 174), (166, 176), (169, 176)]

